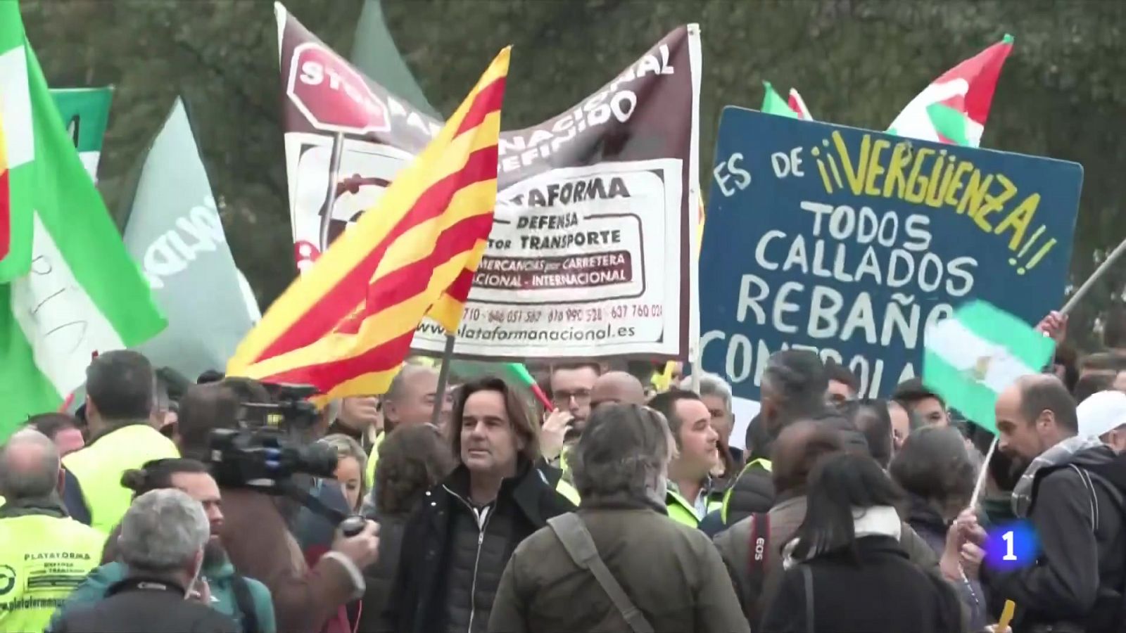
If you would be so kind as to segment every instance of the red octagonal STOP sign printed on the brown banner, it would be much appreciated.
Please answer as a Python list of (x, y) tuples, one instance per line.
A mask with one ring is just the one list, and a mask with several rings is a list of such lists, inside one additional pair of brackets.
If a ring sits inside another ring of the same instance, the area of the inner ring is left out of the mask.
[(343, 134), (391, 130), (387, 106), (364, 75), (320, 43), (294, 47), (286, 96), (318, 130)]

